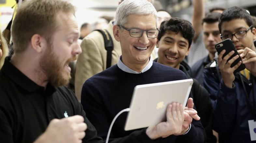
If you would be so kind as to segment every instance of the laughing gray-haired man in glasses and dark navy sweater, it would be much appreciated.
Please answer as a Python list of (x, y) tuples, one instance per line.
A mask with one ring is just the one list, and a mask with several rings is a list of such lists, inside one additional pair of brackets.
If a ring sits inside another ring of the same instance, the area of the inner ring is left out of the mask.
[[(154, 6), (146, 0), (124, 0), (117, 8), (116, 25), (113, 27), (115, 40), (121, 44), (122, 55), (116, 65), (92, 76), (82, 87), (83, 109), (96, 128), (98, 136), (104, 139), (115, 115), (130, 106), (136, 85), (187, 78), (182, 71), (153, 62), (150, 58), (160, 31), (157, 30), (156, 14)], [(178, 103), (173, 103), (173, 107), (175, 106), (178, 107)], [(169, 107), (167, 111), (170, 110)], [(184, 115), (183, 120), (172, 110), (169, 113), (177, 119), (173, 124), (170, 123), (173, 117), (166, 114), (166, 122), (131, 131), (124, 131), (127, 113), (123, 113), (115, 121), (110, 139), (136, 136), (141, 139), (153, 139), (159, 143), (205, 142), (205, 131), (198, 121), (200, 117), (195, 114), (191, 98), (187, 107), (190, 111), (186, 109), (176, 112)], [(166, 133), (167, 130), (169, 132)], [(155, 135), (152, 136), (152, 133)], [(166, 133), (165, 136), (163, 133)]]

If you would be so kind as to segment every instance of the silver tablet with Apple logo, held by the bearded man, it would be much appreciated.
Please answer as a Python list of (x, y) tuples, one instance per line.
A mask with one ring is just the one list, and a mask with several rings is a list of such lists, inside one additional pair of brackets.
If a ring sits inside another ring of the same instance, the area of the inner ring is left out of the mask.
[(137, 85), (124, 130), (133, 130), (166, 121), (166, 107), (173, 102), (186, 107), (193, 79)]

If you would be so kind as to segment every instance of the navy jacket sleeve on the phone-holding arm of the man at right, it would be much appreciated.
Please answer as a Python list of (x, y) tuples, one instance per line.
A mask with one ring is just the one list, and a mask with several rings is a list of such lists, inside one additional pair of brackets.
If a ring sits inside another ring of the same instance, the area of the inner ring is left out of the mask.
[(204, 84), (213, 104), (212, 127), (219, 134), (226, 135), (231, 133), (235, 124), (236, 89), (226, 87), (215, 69), (205, 69)]

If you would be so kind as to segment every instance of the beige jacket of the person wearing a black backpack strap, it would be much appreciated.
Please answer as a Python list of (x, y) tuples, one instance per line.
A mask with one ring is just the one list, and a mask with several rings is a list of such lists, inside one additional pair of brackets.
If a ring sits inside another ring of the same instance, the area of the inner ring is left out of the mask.
[[(106, 30), (110, 33), (114, 50), (112, 51), (111, 66), (117, 64), (121, 55), (121, 46), (113, 35), (113, 21), (108, 23)], [(75, 74), (75, 94), (81, 100), (81, 90), (84, 82), (93, 75), (106, 69), (107, 50), (100, 32), (93, 31), (81, 43), (82, 53), (78, 56)]]

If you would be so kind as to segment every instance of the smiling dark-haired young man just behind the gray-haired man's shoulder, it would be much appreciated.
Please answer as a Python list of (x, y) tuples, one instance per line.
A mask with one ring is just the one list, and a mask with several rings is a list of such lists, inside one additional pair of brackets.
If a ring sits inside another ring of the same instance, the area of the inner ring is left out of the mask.
[[(161, 24), (160, 30), (156, 44), (159, 49), (158, 58), (154, 61), (177, 68), (191, 78), (190, 67), (183, 60), (189, 53), (194, 36), (192, 24), (187, 20), (171, 18)], [(196, 79), (193, 81), (191, 91), (198, 115), (206, 130), (206, 142), (216, 143), (217, 139), (213, 136), (211, 127), (212, 104), (208, 92)]]

